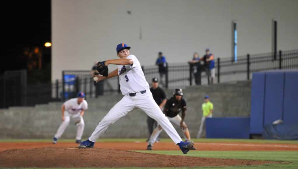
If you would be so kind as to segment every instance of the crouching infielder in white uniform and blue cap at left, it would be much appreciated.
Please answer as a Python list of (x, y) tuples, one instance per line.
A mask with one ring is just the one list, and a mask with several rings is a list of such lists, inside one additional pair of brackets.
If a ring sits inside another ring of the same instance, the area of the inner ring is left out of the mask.
[(69, 125), (70, 117), (75, 121), (77, 126), (76, 143), (82, 143), (81, 138), (84, 131), (84, 119), (83, 115), (85, 110), (88, 109), (88, 103), (85, 100), (85, 93), (80, 92), (77, 94), (77, 98), (71, 98), (63, 103), (61, 107), (62, 123), (60, 124), (53, 140), (53, 144), (57, 144), (57, 140), (61, 137), (66, 127)]

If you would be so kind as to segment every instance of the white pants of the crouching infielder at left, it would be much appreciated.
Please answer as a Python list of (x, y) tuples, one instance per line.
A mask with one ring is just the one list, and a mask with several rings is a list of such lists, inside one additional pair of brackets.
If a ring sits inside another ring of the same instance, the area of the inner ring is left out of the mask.
[(64, 118), (65, 119), (60, 124), (60, 126), (57, 130), (57, 133), (55, 134), (54, 137), (56, 137), (57, 139), (59, 139), (61, 137), (61, 135), (65, 131), (66, 127), (69, 125), (70, 117), (72, 117), (75, 122), (79, 122), (79, 123), (76, 124), (77, 125), (76, 140), (81, 140), (82, 135), (83, 135), (83, 131), (84, 131), (84, 126), (85, 126), (84, 119), (83, 119), (83, 117), (80, 116), (80, 113), (72, 115), (67, 111), (64, 112)]

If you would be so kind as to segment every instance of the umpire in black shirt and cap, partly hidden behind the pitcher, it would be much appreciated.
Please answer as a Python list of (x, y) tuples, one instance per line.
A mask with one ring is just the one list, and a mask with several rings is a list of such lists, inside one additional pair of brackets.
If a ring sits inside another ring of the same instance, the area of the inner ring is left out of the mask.
[[(158, 87), (158, 79), (156, 77), (152, 79), (152, 87), (150, 87), (150, 91), (153, 95), (153, 99), (155, 100), (156, 104), (160, 107), (160, 109), (162, 109), (164, 104), (167, 102), (167, 99), (166, 99), (166, 94), (164, 93), (164, 90), (162, 90), (162, 88)], [(153, 130), (157, 127), (157, 122), (153, 118), (150, 118), (148, 116), (147, 117), (147, 125), (148, 125), (149, 137), (150, 137)], [(149, 140), (149, 138), (148, 138), (148, 140)], [(159, 138), (157, 138), (157, 141), (158, 140), (159, 140)]]

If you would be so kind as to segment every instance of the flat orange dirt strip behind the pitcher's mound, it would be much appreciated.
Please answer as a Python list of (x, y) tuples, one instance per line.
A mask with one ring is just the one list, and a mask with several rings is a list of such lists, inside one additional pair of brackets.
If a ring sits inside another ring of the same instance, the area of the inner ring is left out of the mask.
[[(42, 148), (42, 147), (77, 147), (75, 143), (58, 142), (1, 142), (0, 151), (9, 149)], [(146, 142), (97, 142), (96, 148), (110, 148), (117, 150), (146, 150)], [(195, 143), (197, 151), (298, 151), (297, 144), (276, 143)], [(161, 142), (153, 145), (154, 150), (179, 150), (173, 142)]]

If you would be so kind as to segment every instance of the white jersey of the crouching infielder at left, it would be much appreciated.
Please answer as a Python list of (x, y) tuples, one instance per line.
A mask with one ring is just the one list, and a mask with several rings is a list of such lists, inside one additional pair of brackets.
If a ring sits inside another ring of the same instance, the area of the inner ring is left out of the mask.
[(68, 101), (64, 102), (65, 111), (69, 112), (70, 114), (77, 114), (80, 113), (82, 110), (88, 109), (88, 103), (86, 100), (83, 100), (80, 104), (77, 104), (77, 98), (71, 98)]

